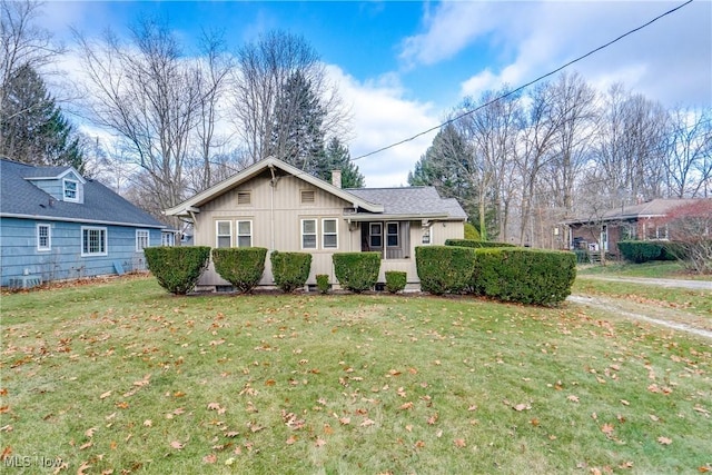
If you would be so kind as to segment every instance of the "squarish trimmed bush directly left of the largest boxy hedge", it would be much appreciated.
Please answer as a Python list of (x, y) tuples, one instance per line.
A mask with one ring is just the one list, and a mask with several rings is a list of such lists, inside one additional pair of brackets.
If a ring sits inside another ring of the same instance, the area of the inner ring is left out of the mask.
[(458, 294), (469, 287), (475, 249), (461, 246), (417, 246), (415, 266), (421, 290), (435, 295)]

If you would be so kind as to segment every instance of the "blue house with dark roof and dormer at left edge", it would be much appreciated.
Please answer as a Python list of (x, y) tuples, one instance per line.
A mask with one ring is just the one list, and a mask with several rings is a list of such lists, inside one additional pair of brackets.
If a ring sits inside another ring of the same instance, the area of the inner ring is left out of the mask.
[(72, 167), (0, 158), (0, 194), (2, 286), (142, 270), (144, 248), (172, 240), (166, 225)]

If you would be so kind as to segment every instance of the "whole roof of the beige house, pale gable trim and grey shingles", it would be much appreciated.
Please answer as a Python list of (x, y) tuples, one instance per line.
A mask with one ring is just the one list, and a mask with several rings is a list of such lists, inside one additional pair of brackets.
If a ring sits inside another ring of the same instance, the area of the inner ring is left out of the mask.
[(353, 220), (373, 219), (374, 214), (378, 214), (383, 219), (467, 219), (457, 200), (441, 198), (433, 187), (339, 188), (274, 157), (247, 167), (164, 212), (168, 216), (189, 216), (190, 212), (199, 212), (200, 206), (267, 169), (280, 169), (350, 202), (355, 209), (365, 211), (349, 215), (348, 218)]

